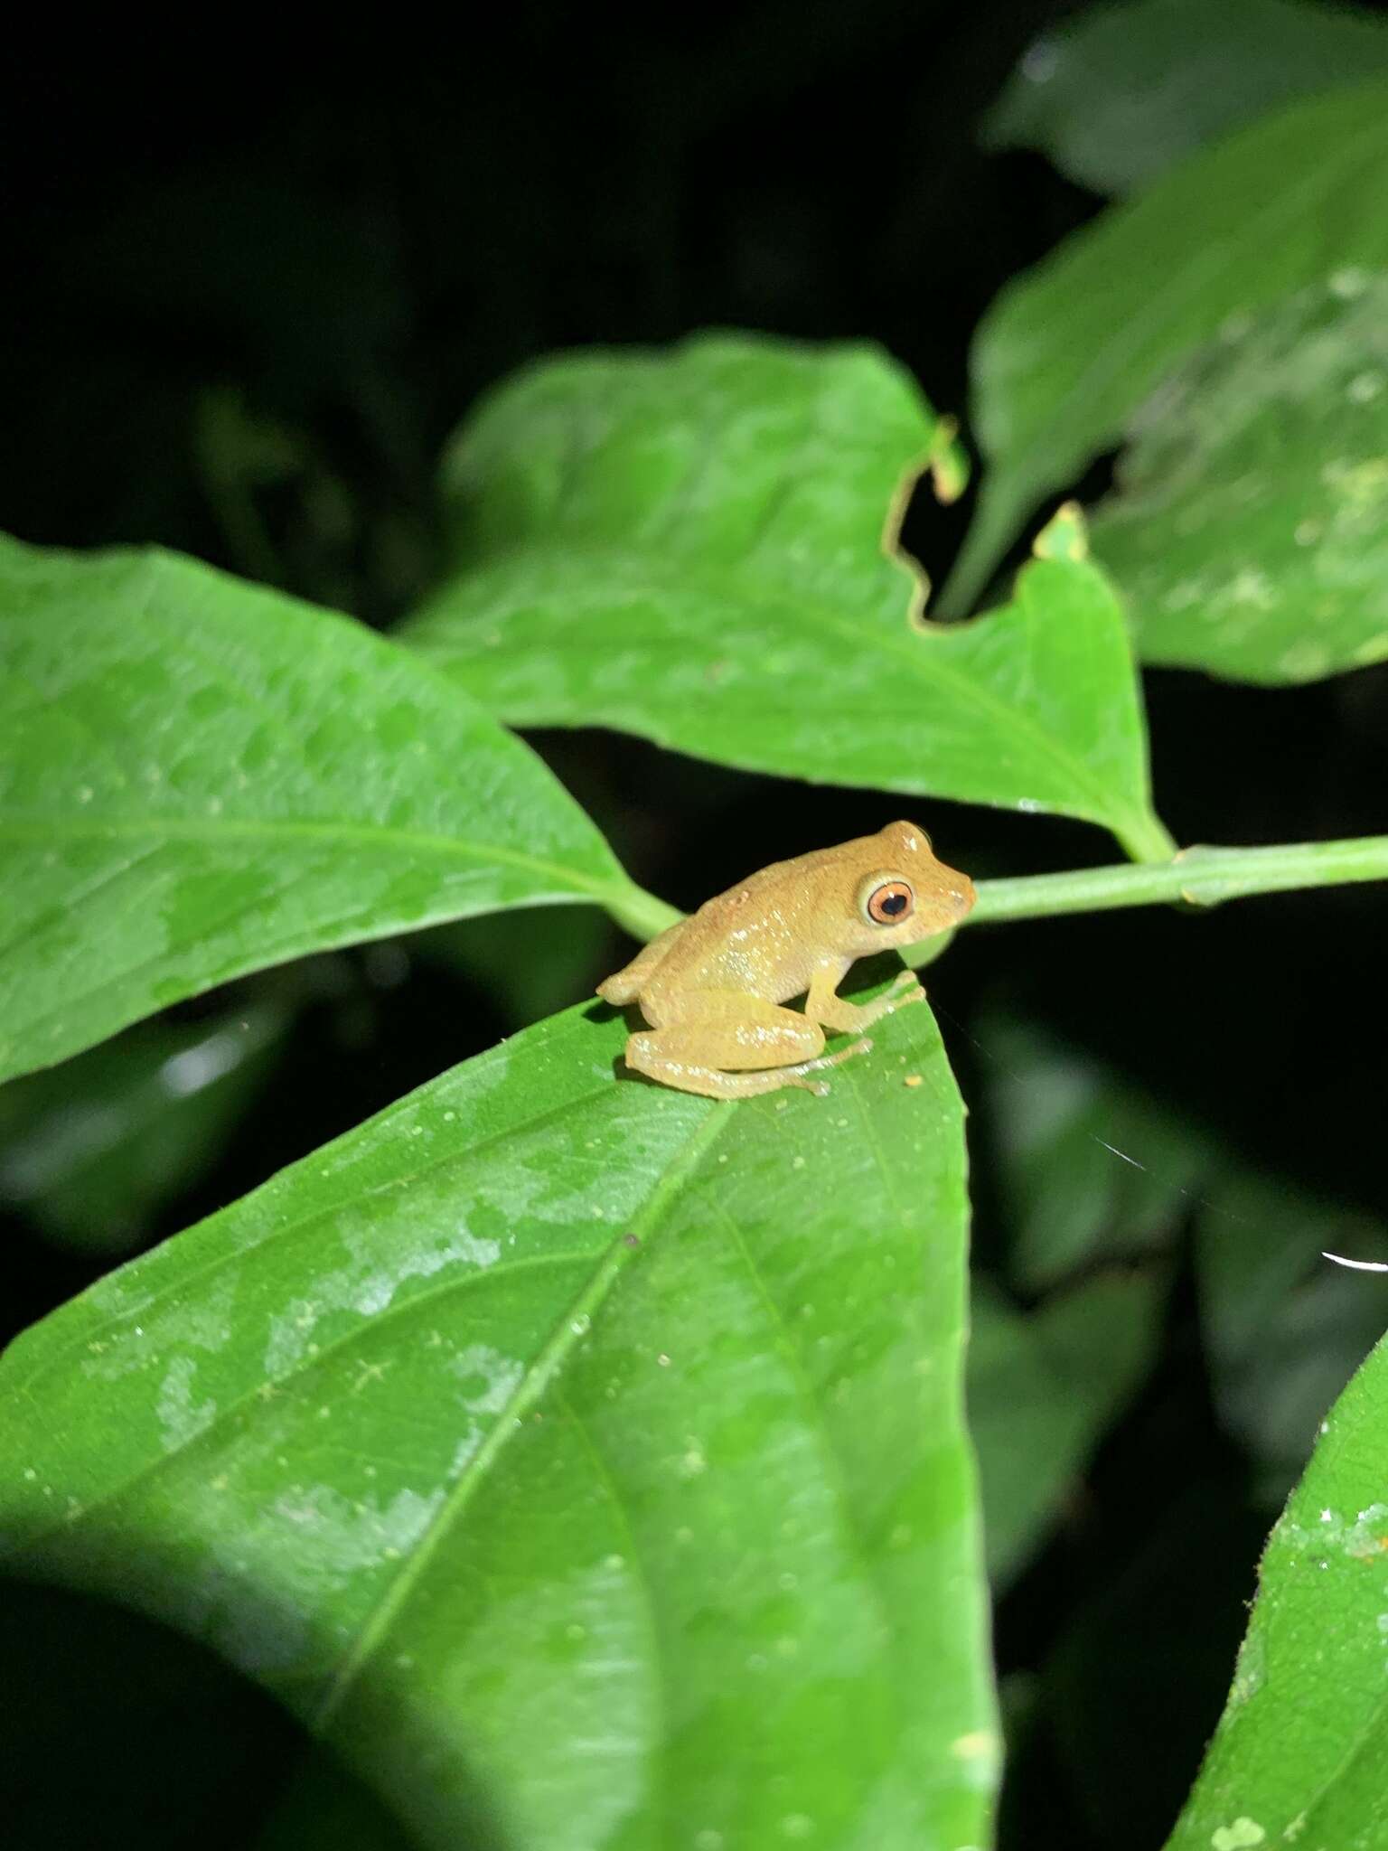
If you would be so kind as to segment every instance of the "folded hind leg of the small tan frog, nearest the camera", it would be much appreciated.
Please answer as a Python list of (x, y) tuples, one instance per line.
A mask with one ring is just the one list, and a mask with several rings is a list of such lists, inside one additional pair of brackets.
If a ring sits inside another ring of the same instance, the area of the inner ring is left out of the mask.
[[(868, 1046), (859, 1040), (825, 1055), (824, 1029), (796, 1009), (777, 1009), (737, 990), (703, 990), (698, 1009), (633, 1035), (626, 1061), (638, 1074), (681, 1092), (746, 1099), (781, 1087), (824, 1094), (829, 1088), (809, 1075), (866, 1053)], [(761, 1072), (750, 1072), (753, 1068)]]

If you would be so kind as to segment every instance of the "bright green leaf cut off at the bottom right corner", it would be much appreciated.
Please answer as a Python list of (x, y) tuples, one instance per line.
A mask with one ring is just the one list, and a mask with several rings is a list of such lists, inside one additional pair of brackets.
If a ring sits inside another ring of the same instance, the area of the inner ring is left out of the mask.
[[(1388, 1305), (1388, 1286), (1360, 1275)], [(1168, 1851), (1388, 1840), (1388, 1340), (1268, 1538), (1238, 1670)]]

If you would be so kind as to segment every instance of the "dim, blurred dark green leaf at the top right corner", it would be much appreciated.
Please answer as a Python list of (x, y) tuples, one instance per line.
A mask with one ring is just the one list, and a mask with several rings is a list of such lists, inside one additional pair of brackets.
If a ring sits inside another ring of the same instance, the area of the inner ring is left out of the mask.
[(1371, 13), (1288, 0), (1138, 0), (1044, 33), (983, 124), (1083, 187), (1133, 193), (1271, 109), (1388, 72)]

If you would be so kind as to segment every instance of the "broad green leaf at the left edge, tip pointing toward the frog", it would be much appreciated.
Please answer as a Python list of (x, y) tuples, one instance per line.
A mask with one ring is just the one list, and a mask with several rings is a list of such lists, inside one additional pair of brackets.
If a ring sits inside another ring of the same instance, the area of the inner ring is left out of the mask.
[(635, 888), (463, 690), (161, 552), (0, 540), (0, 1077), (304, 951)]

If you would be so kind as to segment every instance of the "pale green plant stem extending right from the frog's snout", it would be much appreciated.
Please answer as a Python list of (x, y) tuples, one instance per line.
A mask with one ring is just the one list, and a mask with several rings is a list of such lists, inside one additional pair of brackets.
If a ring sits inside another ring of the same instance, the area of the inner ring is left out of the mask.
[(1349, 881), (1388, 881), (1388, 835), (1366, 835), (1349, 842), (1288, 842), (1277, 848), (1184, 848), (1164, 863), (979, 881), (979, 901), (966, 924), (1147, 907), (1173, 900), (1214, 907), (1221, 900), (1242, 900), (1247, 894), (1342, 887)]

